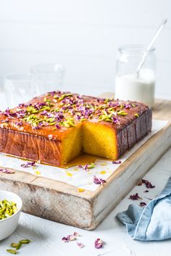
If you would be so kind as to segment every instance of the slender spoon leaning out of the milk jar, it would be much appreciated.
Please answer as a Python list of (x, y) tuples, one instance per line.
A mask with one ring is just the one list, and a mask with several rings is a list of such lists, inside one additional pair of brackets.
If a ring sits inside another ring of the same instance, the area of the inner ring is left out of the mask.
[(149, 46), (146, 47), (146, 50), (144, 51), (143, 57), (141, 59), (141, 62), (138, 65), (138, 68), (136, 70), (136, 77), (139, 77), (139, 73), (141, 70), (141, 67), (143, 67), (143, 63), (146, 60), (146, 56), (149, 53), (149, 51), (151, 50), (152, 46), (154, 45), (154, 42), (157, 40), (157, 37), (159, 36), (160, 32), (162, 31), (162, 29), (164, 28), (164, 25), (167, 23), (167, 19), (163, 20), (162, 23), (159, 25), (159, 28), (157, 28), (156, 32), (154, 33), (154, 36), (152, 37)]

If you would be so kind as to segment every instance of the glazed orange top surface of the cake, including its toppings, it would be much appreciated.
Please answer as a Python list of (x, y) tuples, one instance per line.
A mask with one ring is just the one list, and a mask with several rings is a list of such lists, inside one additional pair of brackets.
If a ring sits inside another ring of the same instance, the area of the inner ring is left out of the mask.
[(148, 108), (138, 102), (52, 91), (1, 112), (0, 127), (62, 139), (70, 128), (83, 122), (102, 122), (115, 129), (123, 128)]

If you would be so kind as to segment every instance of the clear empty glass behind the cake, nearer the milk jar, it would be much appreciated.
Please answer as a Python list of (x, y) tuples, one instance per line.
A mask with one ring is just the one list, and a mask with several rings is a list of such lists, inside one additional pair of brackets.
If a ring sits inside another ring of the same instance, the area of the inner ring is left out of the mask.
[(62, 90), (64, 67), (56, 63), (43, 63), (30, 69), (33, 75), (33, 85), (36, 94), (45, 94), (48, 91)]

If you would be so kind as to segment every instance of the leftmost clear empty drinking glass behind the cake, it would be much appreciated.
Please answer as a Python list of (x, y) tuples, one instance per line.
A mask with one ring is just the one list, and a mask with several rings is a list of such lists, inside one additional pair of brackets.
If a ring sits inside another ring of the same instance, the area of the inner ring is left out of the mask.
[(30, 74), (14, 74), (4, 77), (4, 91), (7, 107), (17, 107), (18, 104), (28, 102), (36, 96)]

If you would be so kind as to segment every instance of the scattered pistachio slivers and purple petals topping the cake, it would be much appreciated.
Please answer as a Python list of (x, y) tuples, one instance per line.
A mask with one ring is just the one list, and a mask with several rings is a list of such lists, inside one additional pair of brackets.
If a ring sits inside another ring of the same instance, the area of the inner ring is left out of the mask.
[[(35, 130), (48, 126), (51, 131), (58, 131), (62, 127), (72, 128), (78, 122), (94, 119), (120, 125), (120, 118), (122, 120), (128, 115), (131, 107), (135, 104), (129, 101), (90, 98), (87, 102), (86, 96), (52, 91), (40, 102), (19, 104), (16, 112), (7, 109), (3, 113), (7, 118), (17, 117), (20, 126), (29, 124)], [(7, 125), (8, 121), (1, 123), (1, 128)]]

